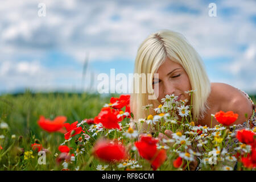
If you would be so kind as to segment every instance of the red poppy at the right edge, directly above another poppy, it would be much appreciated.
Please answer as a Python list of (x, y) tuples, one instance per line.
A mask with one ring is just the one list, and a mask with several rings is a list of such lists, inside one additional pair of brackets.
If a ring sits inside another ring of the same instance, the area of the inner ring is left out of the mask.
[(256, 142), (256, 134), (250, 130), (239, 130), (237, 131), (237, 139), (242, 143), (254, 146)]

